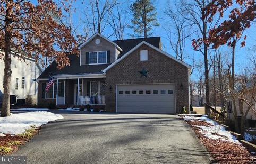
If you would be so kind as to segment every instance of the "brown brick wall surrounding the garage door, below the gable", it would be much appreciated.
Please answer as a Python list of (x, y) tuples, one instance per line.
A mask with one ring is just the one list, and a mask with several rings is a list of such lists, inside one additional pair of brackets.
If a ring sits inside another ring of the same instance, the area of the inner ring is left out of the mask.
[[(148, 61), (140, 61), (141, 50), (148, 50)], [(138, 72), (143, 68), (149, 71), (148, 77)], [(115, 112), (116, 85), (153, 83), (175, 83), (176, 112), (180, 113), (183, 106), (189, 110), (188, 78), (187, 67), (143, 44), (106, 72), (106, 110)]]

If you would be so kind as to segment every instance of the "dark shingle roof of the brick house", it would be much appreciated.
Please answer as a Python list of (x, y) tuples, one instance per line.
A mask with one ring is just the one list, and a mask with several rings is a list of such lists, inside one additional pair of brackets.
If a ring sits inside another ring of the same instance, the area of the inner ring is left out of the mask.
[[(126, 39), (126, 40), (114, 40), (123, 52), (120, 54), (118, 58), (123, 56), (126, 52), (134, 48), (140, 42), (146, 41), (153, 46), (159, 48), (160, 46), (160, 37), (150, 37), (150, 38), (137, 38), (137, 39)], [(38, 77), (38, 79), (49, 78), (49, 75), (78, 75), (78, 74), (101, 74), (101, 70), (107, 68), (110, 64), (105, 65), (83, 65), (80, 66), (80, 58), (76, 55), (69, 56), (70, 66), (66, 66), (65, 68), (58, 70), (57, 64), (53, 61), (42, 74)]]

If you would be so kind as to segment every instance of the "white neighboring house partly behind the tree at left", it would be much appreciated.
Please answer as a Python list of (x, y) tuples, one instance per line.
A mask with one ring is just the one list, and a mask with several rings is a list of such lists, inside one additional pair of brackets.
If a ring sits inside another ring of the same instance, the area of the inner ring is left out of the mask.
[[(11, 90), (10, 95), (16, 95), (17, 99), (25, 99), (26, 96), (31, 96), (33, 103), (37, 103), (38, 83), (36, 78), (41, 74), (42, 68), (35, 59), (25, 57), (19, 61), (19, 54), (11, 53)], [(0, 104), (3, 101), (4, 87), (4, 61), (0, 60)]]

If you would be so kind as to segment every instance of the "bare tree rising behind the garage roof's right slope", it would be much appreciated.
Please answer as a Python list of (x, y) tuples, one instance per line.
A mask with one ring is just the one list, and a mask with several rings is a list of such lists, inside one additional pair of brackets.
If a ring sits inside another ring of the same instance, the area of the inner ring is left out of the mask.
[[(167, 32), (167, 37), (170, 41), (170, 46), (172, 50), (176, 54), (176, 58), (183, 61), (185, 59), (184, 50), (185, 50), (185, 42), (191, 34), (187, 32), (187, 27), (190, 26), (188, 21), (181, 16), (180, 7), (178, 7), (178, 3), (174, 2), (168, 3), (168, 7), (165, 9), (164, 13), (169, 18), (170, 24), (167, 25), (168, 28), (165, 28)], [(168, 21), (169, 22), (169, 21)]]

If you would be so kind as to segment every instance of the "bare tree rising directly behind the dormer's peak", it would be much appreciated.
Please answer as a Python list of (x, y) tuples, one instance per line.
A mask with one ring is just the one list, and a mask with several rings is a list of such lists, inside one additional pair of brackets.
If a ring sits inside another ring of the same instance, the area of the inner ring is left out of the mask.
[(110, 14), (113, 8), (118, 5), (116, 0), (90, 0), (85, 12), (90, 31), (102, 33), (109, 25)]

